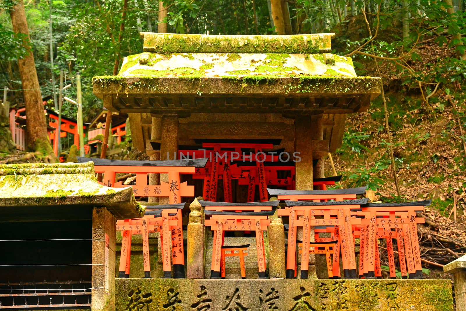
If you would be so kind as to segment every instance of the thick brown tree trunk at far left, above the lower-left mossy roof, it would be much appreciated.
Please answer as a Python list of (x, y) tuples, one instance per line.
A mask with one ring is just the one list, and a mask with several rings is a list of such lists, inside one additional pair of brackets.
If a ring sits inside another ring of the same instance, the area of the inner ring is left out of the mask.
[(27, 50), (27, 55), (18, 60), (18, 68), (21, 76), (24, 103), (26, 106), (26, 131), (29, 148), (41, 151), (44, 155), (53, 155), (47, 135), (47, 123), (42, 104), (41, 89), (37, 72), (35, 70), (34, 54), (29, 41), (29, 30), (27, 28), (26, 13), (22, 0), (18, 0), (10, 10), (13, 31), (26, 34), (22, 45)]

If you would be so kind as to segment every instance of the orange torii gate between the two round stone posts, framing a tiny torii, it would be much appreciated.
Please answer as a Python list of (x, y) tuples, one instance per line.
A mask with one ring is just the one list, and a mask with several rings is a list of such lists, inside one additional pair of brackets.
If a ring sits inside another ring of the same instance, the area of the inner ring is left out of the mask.
[(205, 225), (210, 226), (213, 233), (211, 278), (220, 278), (221, 249), (223, 246), (224, 231), (251, 231), (256, 232), (257, 264), (259, 278), (267, 278), (265, 248), (262, 231), (267, 230), (270, 221), (267, 216), (274, 215), (280, 201), (254, 202), (254, 203), (226, 203), (202, 201), (206, 215)]

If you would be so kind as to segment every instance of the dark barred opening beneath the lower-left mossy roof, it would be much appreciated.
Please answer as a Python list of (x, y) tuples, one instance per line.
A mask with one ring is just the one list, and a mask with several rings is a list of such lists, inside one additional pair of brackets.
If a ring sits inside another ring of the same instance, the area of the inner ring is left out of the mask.
[[(0, 225), (0, 309), (89, 309), (92, 210), (78, 219), (3, 222)], [(4, 219), (5, 220), (5, 219)]]

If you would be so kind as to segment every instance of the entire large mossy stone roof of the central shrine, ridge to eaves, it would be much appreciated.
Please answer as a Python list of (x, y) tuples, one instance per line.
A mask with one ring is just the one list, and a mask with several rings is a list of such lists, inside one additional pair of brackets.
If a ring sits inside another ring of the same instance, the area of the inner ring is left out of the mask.
[(126, 113), (364, 111), (380, 78), (358, 77), (351, 58), (330, 54), (333, 35), (141, 33), (144, 53), (125, 57), (116, 76), (94, 77), (94, 93)]

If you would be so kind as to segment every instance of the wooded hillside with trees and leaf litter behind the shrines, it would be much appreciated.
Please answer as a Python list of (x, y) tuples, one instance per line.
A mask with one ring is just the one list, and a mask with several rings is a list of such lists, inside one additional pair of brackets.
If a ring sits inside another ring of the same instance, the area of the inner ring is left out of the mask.
[[(465, 241), (465, 2), (0, 0), (0, 88), (8, 88), (12, 107), (24, 106), (28, 89), (18, 64), (31, 48), (48, 108), (55, 109), (60, 70), (65, 85), (72, 84), (65, 95), (74, 99), (79, 72), (84, 122), (89, 122), (103, 107), (92, 93), (92, 77), (115, 74), (123, 57), (142, 52), (140, 31), (334, 32), (332, 53), (352, 57), (358, 75), (380, 76), (384, 84), (369, 111), (348, 118), (343, 146), (333, 157), (335, 173), (343, 175), (340, 186), (367, 186), (373, 199), (384, 202), (432, 198), (425, 213), (429, 230)], [(29, 39), (15, 28), (12, 12), (18, 6), (25, 11)], [(75, 119), (76, 106), (64, 103), (63, 115)], [(332, 172), (327, 160), (327, 174)], [(452, 245), (460, 246), (447, 252), (452, 257), (435, 251), (425, 256), (445, 264), (465, 252), (464, 243)]]

